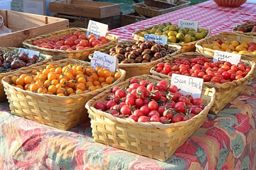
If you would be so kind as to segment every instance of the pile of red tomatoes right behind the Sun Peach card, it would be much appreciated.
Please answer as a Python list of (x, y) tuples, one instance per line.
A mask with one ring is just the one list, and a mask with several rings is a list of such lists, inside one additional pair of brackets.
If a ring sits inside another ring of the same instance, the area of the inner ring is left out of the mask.
[(225, 83), (245, 77), (251, 67), (243, 62), (237, 65), (230, 62), (213, 60), (198, 56), (188, 59), (178, 57), (173, 62), (160, 62), (154, 67), (156, 72), (171, 77), (173, 73), (202, 78), (204, 82)]

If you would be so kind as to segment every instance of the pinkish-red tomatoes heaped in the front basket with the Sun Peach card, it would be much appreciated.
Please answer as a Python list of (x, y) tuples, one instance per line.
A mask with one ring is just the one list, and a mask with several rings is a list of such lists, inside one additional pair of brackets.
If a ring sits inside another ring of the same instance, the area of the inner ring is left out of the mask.
[(193, 118), (205, 108), (202, 98), (183, 95), (177, 86), (165, 80), (154, 81), (132, 78), (127, 89), (114, 86), (105, 101), (94, 107), (118, 118), (135, 122), (177, 123)]

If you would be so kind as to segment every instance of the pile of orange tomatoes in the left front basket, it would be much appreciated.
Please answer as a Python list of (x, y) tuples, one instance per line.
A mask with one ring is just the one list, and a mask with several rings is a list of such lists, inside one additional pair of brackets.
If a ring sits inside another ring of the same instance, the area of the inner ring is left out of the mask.
[(84, 64), (67, 64), (64, 67), (48, 64), (45, 68), (33, 69), (30, 74), (14, 76), (10, 83), (38, 94), (72, 96), (101, 89), (121, 76), (121, 72), (110, 72), (102, 67), (93, 69)]

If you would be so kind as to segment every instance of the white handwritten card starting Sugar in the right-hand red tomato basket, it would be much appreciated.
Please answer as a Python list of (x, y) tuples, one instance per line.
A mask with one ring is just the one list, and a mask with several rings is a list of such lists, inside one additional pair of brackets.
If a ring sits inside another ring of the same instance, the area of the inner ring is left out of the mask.
[(238, 64), (241, 60), (241, 55), (240, 54), (234, 54), (231, 52), (223, 52), (219, 50), (214, 51), (213, 55), (213, 62), (218, 62), (218, 61), (226, 61), (230, 62), (231, 64)]

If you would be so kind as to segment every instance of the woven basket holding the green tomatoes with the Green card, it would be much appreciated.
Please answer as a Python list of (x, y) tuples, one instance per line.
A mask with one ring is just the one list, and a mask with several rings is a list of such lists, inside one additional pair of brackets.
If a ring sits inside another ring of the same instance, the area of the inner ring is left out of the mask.
[[(132, 35), (134, 37), (134, 40), (144, 40), (144, 37), (141, 36), (141, 33), (143, 31), (151, 30), (151, 28), (153, 28), (153, 26), (151, 26), (149, 28), (144, 28), (142, 30), (137, 30), (134, 33), (132, 33)], [(210, 35), (210, 29), (208, 29), (208, 34), (206, 35), (206, 37), (208, 37), (209, 35)], [(168, 42), (168, 44), (170, 44), (170, 45), (181, 45), (181, 52), (194, 52), (194, 51), (196, 51), (196, 42), (198, 42), (198, 41), (193, 41), (193, 42), (188, 42), (188, 43), (171, 43), (171, 42)]]

